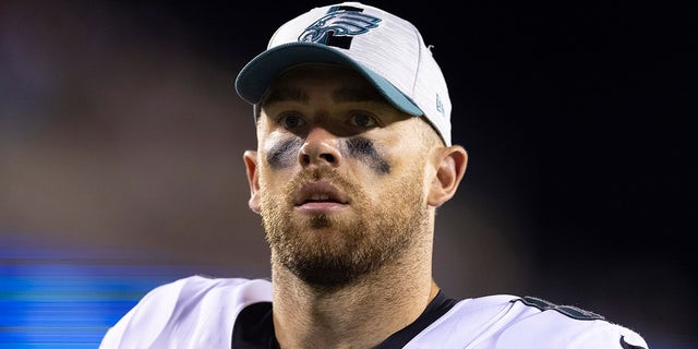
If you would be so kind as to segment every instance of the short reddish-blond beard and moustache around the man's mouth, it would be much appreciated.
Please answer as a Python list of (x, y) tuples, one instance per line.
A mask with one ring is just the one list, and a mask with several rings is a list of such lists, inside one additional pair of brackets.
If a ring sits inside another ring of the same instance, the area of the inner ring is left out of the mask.
[[(301, 183), (326, 180), (351, 197), (359, 217), (352, 221), (333, 216), (292, 216), (290, 197)], [(341, 287), (395, 261), (411, 249), (428, 224), (428, 206), (418, 171), (394, 182), (371, 205), (354, 184), (334, 171), (302, 172), (284, 190), (284, 195), (262, 192), (262, 218), (275, 262), (305, 282)]]

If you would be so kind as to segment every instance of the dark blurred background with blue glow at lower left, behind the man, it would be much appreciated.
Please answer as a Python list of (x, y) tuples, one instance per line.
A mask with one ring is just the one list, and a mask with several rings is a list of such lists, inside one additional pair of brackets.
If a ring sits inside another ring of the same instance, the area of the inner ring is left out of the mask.
[[(268, 277), (232, 89), (321, 1), (0, 1), (0, 347), (94, 348), (191, 274)], [(537, 296), (698, 348), (698, 13), (672, 2), (373, 2), (416, 24), (470, 155), (437, 215), (452, 297)]]

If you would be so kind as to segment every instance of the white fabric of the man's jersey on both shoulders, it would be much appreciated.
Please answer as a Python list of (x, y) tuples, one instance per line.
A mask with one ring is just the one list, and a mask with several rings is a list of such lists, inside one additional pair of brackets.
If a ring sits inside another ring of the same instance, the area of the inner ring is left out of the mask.
[[(270, 318), (270, 301), (272, 284), (267, 280), (183, 278), (148, 292), (107, 332), (100, 348), (274, 348), (236, 341), (244, 328), (260, 327), (245, 327), (242, 317), (251, 316), (242, 316), (243, 310), (266, 304)], [(267, 318), (267, 323), (272, 322)], [(274, 337), (273, 327), (267, 334)], [(399, 347), (649, 349), (637, 333), (597, 314), (508, 294), (453, 300), (443, 314), (429, 317), (407, 335), (409, 338)]]

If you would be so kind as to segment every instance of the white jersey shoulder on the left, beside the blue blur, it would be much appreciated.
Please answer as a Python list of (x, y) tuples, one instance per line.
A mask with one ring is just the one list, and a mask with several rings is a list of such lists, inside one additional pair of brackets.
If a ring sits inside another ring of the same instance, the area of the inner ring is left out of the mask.
[(197, 341), (229, 346), (240, 310), (270, 300), (267, 280), (190, 276), (146, 293), (109, 328), (100, 348), (186, 347)]

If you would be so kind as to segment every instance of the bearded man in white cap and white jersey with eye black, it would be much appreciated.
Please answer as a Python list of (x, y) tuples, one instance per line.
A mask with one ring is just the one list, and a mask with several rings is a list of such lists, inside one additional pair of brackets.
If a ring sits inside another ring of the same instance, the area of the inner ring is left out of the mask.
[(358, 2), (313, 9), (275, 33), (236, 88), (254, 106), (258, 144), (244, 163), (272, 281), (158, 287), (103, 348), (648, 348), (573, 306), (441, 292), (434, 215), (468, 156), (409, 22)]

